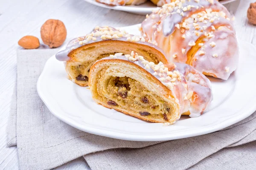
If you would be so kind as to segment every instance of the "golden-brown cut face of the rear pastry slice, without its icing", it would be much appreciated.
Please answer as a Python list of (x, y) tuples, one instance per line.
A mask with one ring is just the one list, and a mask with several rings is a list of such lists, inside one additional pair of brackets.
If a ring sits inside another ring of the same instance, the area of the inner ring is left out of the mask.
[[(152, 61), (156, 64), (158, 62), (163, 62), (164, 64), (168, 63), (165, 55), (152, 46), (121, 40), (106, 40), (86, 44), (71, 51), (68, 54), (70, 60), (67, 61), (66, 71), (73, 82), (81, 86), (87, 86), (87, 81), (79, 81), (76, 79), (78, 75), (75, 75), (74, 71), (71, 69), (73, 65), (82, 65), (83, 63), (92, 65), (96, 60), (109, 56), (106, 55), (104, 57), (99, 57), (104, 53), (114, 54), (121, 52), (123, 54), (131, 54), (131, 51), (134, 51), (139, 55), (143, 55), (146, 60)], [(88, 66), (86, 69), (89, 70), (90, 67)], [(88, 73), (84, 76), (88, 77)]]

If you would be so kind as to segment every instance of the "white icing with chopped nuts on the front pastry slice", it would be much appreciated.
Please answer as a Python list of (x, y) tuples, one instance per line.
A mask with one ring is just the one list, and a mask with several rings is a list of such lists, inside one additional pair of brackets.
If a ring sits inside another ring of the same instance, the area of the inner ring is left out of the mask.
[(189, 65), (175, 63), (175, 68), (169, 71), (162, 62), (155, 65), (133, 51), (125, 55), (116, 53), (101, 60), (104, 59), (126, 60), (148, 71), (172, 91), (175, 102), (180, 105), (180, 113), (190, 111), (191, 116), (200, 116), (212, 101), (209, 79)]

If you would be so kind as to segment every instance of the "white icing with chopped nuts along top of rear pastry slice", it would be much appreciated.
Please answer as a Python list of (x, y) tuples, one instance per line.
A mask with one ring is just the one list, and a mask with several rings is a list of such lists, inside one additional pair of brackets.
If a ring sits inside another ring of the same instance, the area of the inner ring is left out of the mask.
[(157, 47), (156, 45), (150, 42), (146, 42), (144, 37), (131, 35), (131, 34), (128, 34), (126, 31), (119, 30), (109, 26), (103, 26), (103, 27), (96, 26), (90, 34), (71, 40), (68, 43), (66, 49), (64, 49), (63, 51), (59, 51), (56, 54), (56, 59), (58, 59), (59, 61), (68, 61), (70, 59), (70, 57), (68, 57), (68, 54), (70, 53), (70, 51), (76, 48), (79, 48), (83, 45), (87, 45), (87, 44), (99, 42), (99, 41), (108, 41), (108, 40), (136, 42), (139, 44), (154, 47), (158, 51), (164, 54), (161, 48)]

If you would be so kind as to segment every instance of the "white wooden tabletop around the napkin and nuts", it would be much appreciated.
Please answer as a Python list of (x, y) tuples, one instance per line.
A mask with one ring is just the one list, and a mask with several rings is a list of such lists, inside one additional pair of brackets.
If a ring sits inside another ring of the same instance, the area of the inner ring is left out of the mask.
[[(254, 1), (237, 0), (225, 6), (236, 17), (238, 39), (256, 45), (256, 26), (248, 24), (246, 17), (247, 8)], [(40, 28), (48, 19), (64, 22), (67, 42), (86, 34), (96, 25), (129, 26), (141, 23), (144, 18), (93, 6), (83, 0), (0, 0), (0, 170), (18, 169), (16, 147), (6, 147), (6, 127), (16, 79), (16, 51), (21, 49), (18, 40), (25, 35), (41, 39)], [(56, 169), (87, 169), (85, 165), (80, 158)]]

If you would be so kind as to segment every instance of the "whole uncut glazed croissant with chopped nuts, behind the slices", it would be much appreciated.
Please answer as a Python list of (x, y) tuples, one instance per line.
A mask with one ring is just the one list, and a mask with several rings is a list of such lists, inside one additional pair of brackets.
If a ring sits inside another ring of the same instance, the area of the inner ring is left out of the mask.
[(216, 0), (176, 0), (147, 15), (141, 27), (143, 37), (162, 48), (169, 62), (220, 79), (236, 70), (236, 32), (230, 13)]

